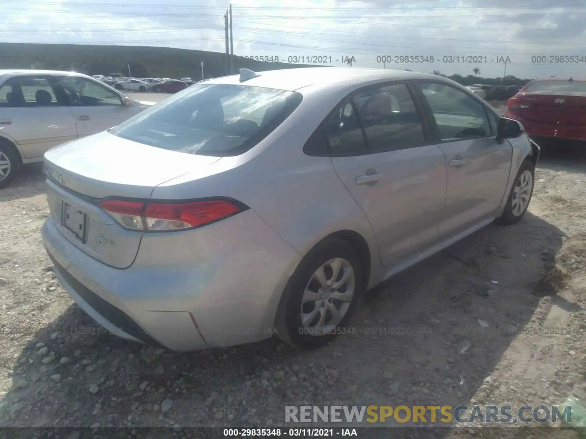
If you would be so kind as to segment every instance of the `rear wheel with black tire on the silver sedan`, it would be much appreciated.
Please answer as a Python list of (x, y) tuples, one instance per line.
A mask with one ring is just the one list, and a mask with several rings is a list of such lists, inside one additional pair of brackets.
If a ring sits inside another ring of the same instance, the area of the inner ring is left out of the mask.
[(303, 350), (325, 346), (345, 328), (362, 293), (356, 250), (346, 241), (322, 241), (299, 263), (285, 287), (277, 316), (278, 336)]

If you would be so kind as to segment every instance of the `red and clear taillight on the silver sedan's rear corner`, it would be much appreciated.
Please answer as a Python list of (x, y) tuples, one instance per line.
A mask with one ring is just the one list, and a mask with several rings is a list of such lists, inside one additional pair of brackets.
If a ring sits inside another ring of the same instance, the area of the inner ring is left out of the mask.
[(227, 200), (202, 200), (188, 203), (110, 200), (100, 203), (100, 207), (123, 227), (147, 231), (198, 227), (243, 210), (237, 203)]

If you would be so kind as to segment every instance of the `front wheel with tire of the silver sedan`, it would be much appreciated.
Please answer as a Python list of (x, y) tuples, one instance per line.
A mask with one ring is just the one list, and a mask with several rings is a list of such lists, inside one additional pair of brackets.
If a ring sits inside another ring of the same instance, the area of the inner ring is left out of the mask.
[(499, 224), (517, 224), (525, 216), (535, 183), (535, 165), (529, 158), (526, 158), (519, 167), (515, 182), (507, 198), (505, 210), (496, 219)]

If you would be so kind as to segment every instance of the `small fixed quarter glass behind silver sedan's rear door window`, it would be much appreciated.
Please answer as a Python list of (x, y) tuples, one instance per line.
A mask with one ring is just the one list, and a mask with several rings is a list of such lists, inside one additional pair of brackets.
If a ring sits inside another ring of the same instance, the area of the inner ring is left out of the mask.
[(350, 101), (345, 101), (326, 118), (323, 128), (333, 156), (366, 153), (360, 122)]

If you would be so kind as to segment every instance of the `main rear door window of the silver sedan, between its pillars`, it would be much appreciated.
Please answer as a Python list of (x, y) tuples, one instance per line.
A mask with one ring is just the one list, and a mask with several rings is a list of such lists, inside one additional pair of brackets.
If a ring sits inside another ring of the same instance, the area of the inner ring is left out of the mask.
[[(355, 95), (369, 150), (393, 151), (425, 145), (415, 104), (405, 84), (386, 85)], [(360, 102), (360, 104), (358, 104)]]

